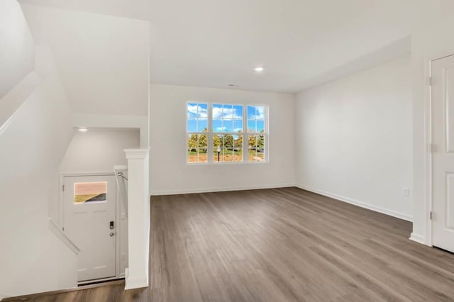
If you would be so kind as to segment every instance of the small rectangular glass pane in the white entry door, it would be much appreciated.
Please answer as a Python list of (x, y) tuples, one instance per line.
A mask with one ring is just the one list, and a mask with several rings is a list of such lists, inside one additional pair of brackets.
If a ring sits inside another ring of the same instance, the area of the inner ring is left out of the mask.
[(74, 183), (74, 203), (106, 202), (107, 181)]

